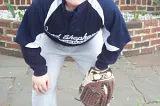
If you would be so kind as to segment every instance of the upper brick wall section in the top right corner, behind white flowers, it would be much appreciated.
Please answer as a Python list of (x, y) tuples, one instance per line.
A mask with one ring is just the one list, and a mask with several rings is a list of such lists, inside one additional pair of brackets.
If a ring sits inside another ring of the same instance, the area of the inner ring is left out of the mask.
[(160, 12), (160, 6), (152, 0), (115, 0), (122, 11), (144, 10), (148, 12)]

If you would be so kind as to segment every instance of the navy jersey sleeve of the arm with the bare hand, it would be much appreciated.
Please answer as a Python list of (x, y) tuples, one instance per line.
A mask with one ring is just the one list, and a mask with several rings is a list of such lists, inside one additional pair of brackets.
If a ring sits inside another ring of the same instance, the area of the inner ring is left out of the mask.
[(38, 0), (33, 1), (24, 14), (15, 39), (21, 46), (25, 62), (34, 70), (35, 76), (41, 76), (47, 72), (46, 61), (40, 55), (41, 47), (29, 45), (44, 32), (43, 16), (40, 3)]

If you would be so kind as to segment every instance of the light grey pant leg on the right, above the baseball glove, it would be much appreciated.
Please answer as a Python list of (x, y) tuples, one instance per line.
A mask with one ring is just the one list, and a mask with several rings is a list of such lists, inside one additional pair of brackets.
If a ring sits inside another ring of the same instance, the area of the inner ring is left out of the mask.
[(95, 66), (97, 56), (101, 53), (103, 44), (103, 37), (101, 33), (98, 33), (91, 41), (79, 46), (78, 51), (71, 54), (83, 75), (86, 74), (90, 67)]

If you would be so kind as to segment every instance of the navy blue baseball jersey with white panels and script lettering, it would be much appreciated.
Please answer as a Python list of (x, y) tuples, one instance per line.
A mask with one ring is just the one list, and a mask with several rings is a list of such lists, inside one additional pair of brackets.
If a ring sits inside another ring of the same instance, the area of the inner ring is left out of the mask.
[[(48, 16), (50, 8), (52, 12)], [(95, 66), (105, 69), (116, 62), (123, 47), (131, 40), (113, 0), (86, 0), (72, 12), (65, 9), (65, 0), (33, 1), (17, 31), (16, 42), (20, 44), (24, 59), (34, 70), (34, 75), (41, 76), (47, 72), (46, 60), (40, 55), (41, 48), (27, 46), (39, 34), (45, 33), (65, 46), (77, 46), (91, 40), (100, 29), (104, 30), (106, 41)]]

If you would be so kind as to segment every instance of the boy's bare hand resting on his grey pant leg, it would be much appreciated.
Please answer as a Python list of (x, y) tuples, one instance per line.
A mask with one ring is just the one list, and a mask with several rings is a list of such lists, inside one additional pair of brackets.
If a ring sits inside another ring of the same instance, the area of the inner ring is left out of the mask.
[(49, 89), (49, 75), (46, 73), (43, 76), (32, 76), (33, 89), (38, 93), (46, 93)]

